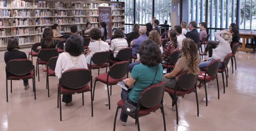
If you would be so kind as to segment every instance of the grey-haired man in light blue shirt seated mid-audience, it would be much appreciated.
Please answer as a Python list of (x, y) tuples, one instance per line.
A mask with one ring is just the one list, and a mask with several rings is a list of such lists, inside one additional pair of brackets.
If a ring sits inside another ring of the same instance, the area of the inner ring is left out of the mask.
[(148, 36), (146, 35), (147, 27), (146, 26), (140, 26), (139, 34), (140, 36), (131, 42), (132, 47), (132, 55), (136, 56), (140, 49), (140, 45), (145, 41), (148, 40)]

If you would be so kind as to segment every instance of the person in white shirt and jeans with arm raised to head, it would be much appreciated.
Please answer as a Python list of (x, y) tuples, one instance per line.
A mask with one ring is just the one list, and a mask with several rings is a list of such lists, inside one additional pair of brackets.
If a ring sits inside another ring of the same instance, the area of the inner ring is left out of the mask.
[[(214, 37), (220, 43), (218, 47), (216, 47), (216, 49), (212, 50), (212, 58), (207, 58), (204, 62), (201, 62), (199, 64), (200, 69), (207, 67), (211, 63), (211, 61), (214, 61), (215, 59), (220, 59), (221, 61), (223, 61), (225, 56), (232, 52), (230, 48), (230, 43), (232, 42), (232, 34), (229, 31), (218, 31), (214, 33)], [(219, 68), (221, 67), (222, 64), (220, 64)]]

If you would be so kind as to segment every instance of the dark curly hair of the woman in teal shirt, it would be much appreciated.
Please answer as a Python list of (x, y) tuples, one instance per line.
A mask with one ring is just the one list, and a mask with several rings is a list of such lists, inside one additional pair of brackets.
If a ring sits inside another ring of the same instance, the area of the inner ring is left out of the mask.
[(152, 40), (146, 40), (141, 44), (139, 54), (140, 62), (147, 66), (157, 66), (162, 61), (161, 50)]

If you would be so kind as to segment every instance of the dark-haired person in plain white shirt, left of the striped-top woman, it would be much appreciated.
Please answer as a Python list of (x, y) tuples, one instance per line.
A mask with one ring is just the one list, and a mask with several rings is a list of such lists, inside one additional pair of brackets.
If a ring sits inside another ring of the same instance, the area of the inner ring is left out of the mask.
[[(91, 62), (91, 58), (95, 52), (104, 52), (109, 50), (108, 43), (103, 42), (101, 40), (101, 31), (98, 28), (93, 28), (90, 31), (91, 42), (89, 43), (88, 50), (89, 52), (86, 54), (86, 61), (89, 64)], [(95, 65), (92, 63), (92, 65)]]

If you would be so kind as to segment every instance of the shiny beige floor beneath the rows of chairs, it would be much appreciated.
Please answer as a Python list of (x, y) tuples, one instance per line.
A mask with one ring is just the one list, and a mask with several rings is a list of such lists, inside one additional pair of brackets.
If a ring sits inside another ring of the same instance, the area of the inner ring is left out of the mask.
[[(22, 50), (29, 51), (29, 49)], [(113, 130), (116, 102), (120, 100), (121, 89), (118, 86), (113, 87), (111, 110), (105, 105), (108, 102), (106, 86), (97, 82), (93, 102), (94, 116), (91, 117), (90, 93), (85, 93), (84, 106), (81, 95), (73, 97), (72, 105), (63, 104), (63, 121), (60, 121), (56, 97), (58, 80), (56, 77), (51, 77), (48, 98), (43, 72), (40, 72), (40, 82), (36, 81), (36, 100), (32, 88), (24, 90), (22, 81), (15, 81), (13, 93), (9, 93), (9, 102), (6, 102), (3, 54), (4, 52), (0, 52), (0, 130)], [(204, 101), (204, 88), (198, 89), (199, 117), (196, 116), (195, 94), (192, 93), (182, 98), (179, 106), (179, 125), (176, 125), (175, 112), (170, 107), (170, 96), (165, 93), (164, 111), (167, 130), (255, 130), (256, 57), (255, 54), (244, 52), (238, 52), (236, 57), (237, 70), (234, 73), (228, 65), (230, 72), (225, 94), (223, 94), (221, 75), (218, 75), (220, 100), (217, 98), (216, 81), (207, 84), (209, 87), (207, 107)], [(93, 75), (94, 77), (97, 75), (97, 70), (93, 71)], [(29, 81), (29, 84), (31, 85), (32, 82)], [(120, 112), (118, 116), (119, 114)], [(136, 130), (134, 122), (134, 119), (129, 118), (127, 126), (122, 127), (120, 121), (117, 121), (116, 130)], [(163, 130), (161, 112), (157, 111), (140, 118), (140, 126), (141, 130)]]

